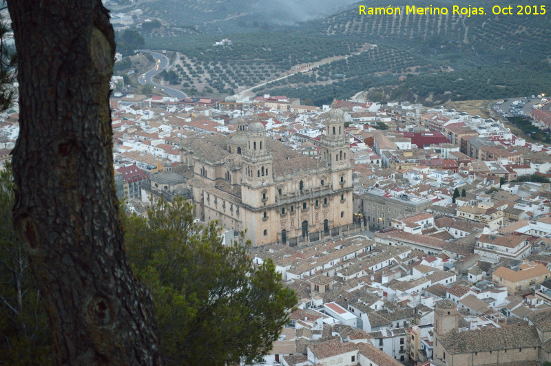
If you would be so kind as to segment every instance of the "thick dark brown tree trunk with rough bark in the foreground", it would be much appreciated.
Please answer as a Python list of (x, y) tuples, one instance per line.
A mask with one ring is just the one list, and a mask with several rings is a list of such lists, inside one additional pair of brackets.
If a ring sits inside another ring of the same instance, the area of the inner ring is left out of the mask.
[(154, 306), (127, 263), (114, 192), (101, 0), (8, 1), (19, 55), (14, 223), (59, 365), (158, 365)]

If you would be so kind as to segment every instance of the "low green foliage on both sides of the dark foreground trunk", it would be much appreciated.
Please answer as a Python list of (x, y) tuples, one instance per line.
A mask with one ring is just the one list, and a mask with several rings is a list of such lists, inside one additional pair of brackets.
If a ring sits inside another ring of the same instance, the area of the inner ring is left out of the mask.
[[(54, 363), (48, 316), (13, 228), (11, 166), (0, 172), (0, 363)], [(134, 273), (151, 292), (167, 365), (251, 363), (271, 349), (297, 299), (271, 261), (222, 246), (191, 203), (157, 202), (148, 218), (121, 214)]]

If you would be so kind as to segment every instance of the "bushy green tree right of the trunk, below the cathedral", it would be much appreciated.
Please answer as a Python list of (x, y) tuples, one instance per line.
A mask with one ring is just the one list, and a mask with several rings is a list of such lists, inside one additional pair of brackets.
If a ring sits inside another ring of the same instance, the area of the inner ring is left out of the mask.
[(267, 354), (297, 301), (271, 260), (253, 266), (244, 247), (223, 246), (216, 223), (194, 223), (181, 198), (123, 224), (129, 261), (153, 294), (165, 363), (248, 364)]

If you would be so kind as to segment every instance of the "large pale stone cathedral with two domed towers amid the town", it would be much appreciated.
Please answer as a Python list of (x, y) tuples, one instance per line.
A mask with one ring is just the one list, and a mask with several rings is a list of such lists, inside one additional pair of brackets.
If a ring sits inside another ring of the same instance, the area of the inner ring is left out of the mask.
[(216, 219), (236, 233), (246, 230), (253, 246), (295, 246), (337, 235), (353, 221), (349, 146), (336, 101), (326, 114), (321, 159), (267, 138), (257, 116), (248, 127), (239, 118), (230, 135), (185, 139), (180, 166), (152, 175), (149, 193), (174, 180), (173, 187), (179, 182), (191, 191), (202, 221)]

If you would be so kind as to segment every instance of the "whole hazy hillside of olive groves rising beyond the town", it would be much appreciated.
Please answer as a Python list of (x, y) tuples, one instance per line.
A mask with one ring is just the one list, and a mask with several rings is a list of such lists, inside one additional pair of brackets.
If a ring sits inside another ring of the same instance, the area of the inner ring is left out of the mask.
[[(320, 3), (318, 14), (330, 12), (330, 2)], [(328, 59), (334, 61), (254, 91), (321, 104), (334, 92), (346, 98), (371, 89), (382, 100), (430, 105), (530, 94), (551, 85), (551, 8), (545, 15), (466, 17), (451, 12), (453, 5), (468, 5), (466, 1), (420, 0), (416, 6), (445, 6), (450, 12), (406, 14), (403, 5), (400, 15), (366, 16), (358, 14), (356, 3), (328, 17), (297, 23), (302, 20), (297, 14), (304, 12), (295, 11), (293, 17), (289, 12), (308, 2), (294, 3), (300, 5), (278, 10), (270, 8), (272, 2), (249, 0), (168, 0), (140, 6), (173, 26), (183, 22), (182, 29), (211, 33), (146, 38), (147, 47), (183, 55), (176, 72), (192, 94), (238, 92), (291, 74), (299, 65)], [(477, 3), (490, 13), (494, 5)], [(177, 6), (182, 11), (176, 11)], [(369, 6), (388, 3), (375, 0)], [(222, 39), (231, 39), (231, 45), (214, 46)], [(360, 52), (366, 45), (376, 47)]]

